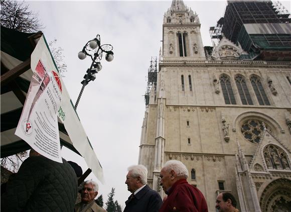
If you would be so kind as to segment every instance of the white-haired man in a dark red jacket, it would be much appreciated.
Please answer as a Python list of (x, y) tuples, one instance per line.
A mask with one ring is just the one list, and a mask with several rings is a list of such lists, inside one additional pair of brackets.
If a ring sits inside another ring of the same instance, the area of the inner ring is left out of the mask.
[(186, 166), (177, 160), (165, 163), (161, 170), (161, 185), (167, 199), (164, 201), (160, 212), (207, 212), (206, 200), (198, 188), (187, 182), (188, 170)]

